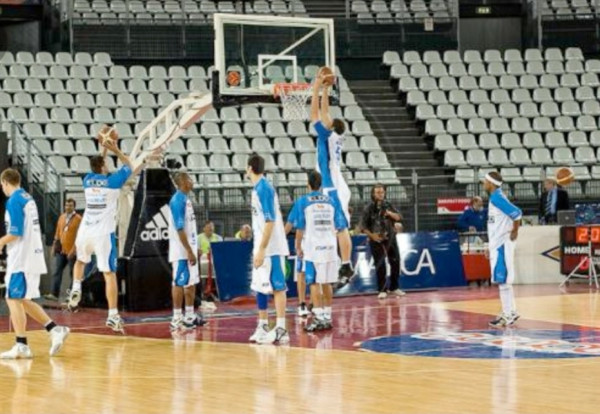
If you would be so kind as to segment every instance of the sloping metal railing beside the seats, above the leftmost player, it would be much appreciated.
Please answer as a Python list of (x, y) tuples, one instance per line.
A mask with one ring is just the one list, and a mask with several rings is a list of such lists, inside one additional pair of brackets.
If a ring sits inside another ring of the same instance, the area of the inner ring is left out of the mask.
[(35, 199), (40, 209), (40, 224), (46, 235), (46, 242), (54, 237), (54, 224), (60, 215), (64, 183), (59, 172), (49, 162), (21, 125), (12, 119), (10, 124), (10, 153), (12, 166), (23, 178), (23, 186)]

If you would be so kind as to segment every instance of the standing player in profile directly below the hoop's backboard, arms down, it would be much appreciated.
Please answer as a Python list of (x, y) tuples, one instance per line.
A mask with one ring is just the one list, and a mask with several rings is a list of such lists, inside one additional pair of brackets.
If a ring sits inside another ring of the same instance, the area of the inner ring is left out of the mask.
[[(286, 290), (285, 261), (289, 255), (283, 218), (277, 192), (264, 176), (265, 160), (253, 154), (248, 159), (246, 174), (254, 185), (252, 189), (252, 250), (251, 289), (256, 292), (258, 325), (250, 341), (272, 344), (289, 343), (285, 325)], [(269, 331), (267, 308), (273, 294), (277, 324)]]

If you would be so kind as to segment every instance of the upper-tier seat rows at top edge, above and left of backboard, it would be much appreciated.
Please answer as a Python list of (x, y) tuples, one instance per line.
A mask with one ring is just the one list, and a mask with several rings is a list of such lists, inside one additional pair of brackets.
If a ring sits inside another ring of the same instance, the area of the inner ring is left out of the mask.
[[(212, 0), (131, 0), (127, 9), (124, 0), (75, 0), (73, 18), (88, 24), (120, 24), (125, 21), (132, 24), (171, 24), (183, 18), (190, 24), (211, 24), (214, 13), (241, 12), (234, 3)], [(306, 13), (302, 0), (256, 0), (246, 2), (244, 11), (277, 15)]]

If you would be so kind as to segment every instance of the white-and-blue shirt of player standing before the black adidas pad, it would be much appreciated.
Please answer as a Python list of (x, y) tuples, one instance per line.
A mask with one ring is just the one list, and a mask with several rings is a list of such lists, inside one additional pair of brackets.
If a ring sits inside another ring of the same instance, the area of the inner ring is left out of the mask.
[(198, 255), (198, 237), (196, 235), (196, 214), (190, 198), (183, 192), (177, 191), (169, 201), (169, 261), (187, 260), (187, 251), (179, 239), (178, 232), (183, 230), (188, 243)]

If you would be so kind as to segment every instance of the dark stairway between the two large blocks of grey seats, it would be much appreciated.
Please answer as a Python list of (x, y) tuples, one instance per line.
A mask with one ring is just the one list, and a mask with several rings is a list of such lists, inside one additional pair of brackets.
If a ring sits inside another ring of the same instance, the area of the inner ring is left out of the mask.
[[(397, 94), (390, 88), (389, 81), (349, 81), (348, 85), (371, 124), (373, 133), (379, 138), (381, 148), (387, 154), (392, 168), (398, 170), (402, 184), (410, 186), (412, 171), (418, 169), (419, 215), (424, 218), (429, 216), (435, 218), (437, 197), (445, 195), (445, 189), (451, 187), (452, 179), (441, 176), (444, 170), (440, 168), (434, 152), (427, 146), (425, 137), (417, 128), (415, 120), (408, 114), (406, 107), (400, 105)], [(411, 212), (404, 211), (403, 214), (407, 217), (411, 216)], [(428, 227), (420, 226), (419, 229), (440, 230), (435, 226)]]

